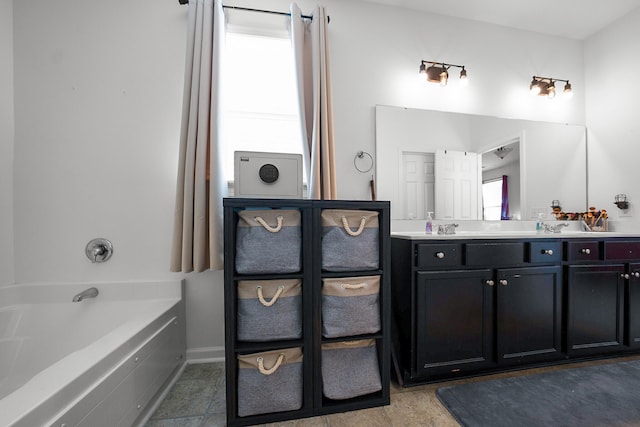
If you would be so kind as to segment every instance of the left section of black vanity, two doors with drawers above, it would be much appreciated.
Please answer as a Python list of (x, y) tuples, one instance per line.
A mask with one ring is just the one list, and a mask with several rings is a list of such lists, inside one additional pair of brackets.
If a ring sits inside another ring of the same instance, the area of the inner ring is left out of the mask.
[(399, 381), (419, 384), (562, 357), (560, 259), (560, 243), (552, 240), (393, 238)]

